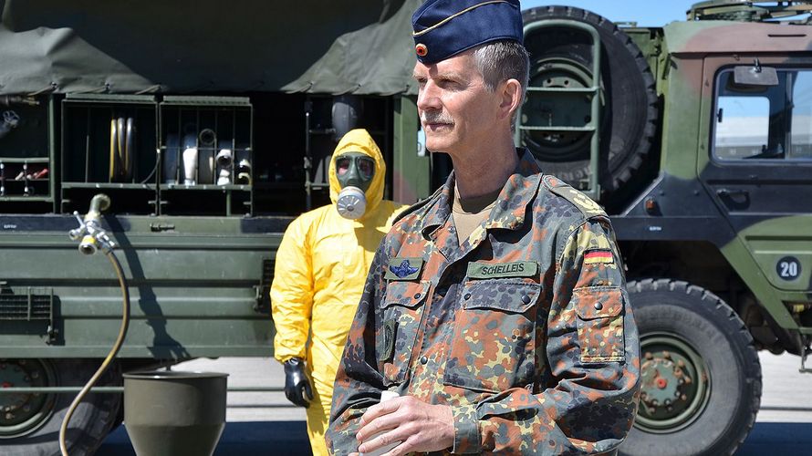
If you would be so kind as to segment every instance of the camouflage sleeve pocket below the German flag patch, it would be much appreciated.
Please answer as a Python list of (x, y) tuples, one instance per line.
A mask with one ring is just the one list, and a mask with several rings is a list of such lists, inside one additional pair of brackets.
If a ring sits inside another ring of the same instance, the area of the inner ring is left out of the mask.
[(581, 362), (622, 361), (624, 354), (623, 300), (617, 286), (588, 286), (573, 291), (578, 314)]

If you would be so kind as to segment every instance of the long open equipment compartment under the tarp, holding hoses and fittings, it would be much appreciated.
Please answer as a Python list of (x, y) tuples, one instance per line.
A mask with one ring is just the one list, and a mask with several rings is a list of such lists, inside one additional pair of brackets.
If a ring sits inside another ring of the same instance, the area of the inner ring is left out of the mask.
[(81, 212), (104, 192), (121, 215), (297, 215), (330, 202), (330, 157), (356, 128), (392, 164), (390, 98), (236, 95), (0, 98), (20, 119), (0, 136), (0, 212)]

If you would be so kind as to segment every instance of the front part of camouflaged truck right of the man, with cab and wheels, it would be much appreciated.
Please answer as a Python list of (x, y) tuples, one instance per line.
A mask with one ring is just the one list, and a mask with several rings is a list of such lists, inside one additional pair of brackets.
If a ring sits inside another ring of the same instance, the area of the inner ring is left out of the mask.
[(640, 326), (621, 453), (730, 454), (759, 408), (756, 351), (807, 370), (810, 4), (702, 2), (661, 27), (524, 12), (516, 140), (609, 213)]

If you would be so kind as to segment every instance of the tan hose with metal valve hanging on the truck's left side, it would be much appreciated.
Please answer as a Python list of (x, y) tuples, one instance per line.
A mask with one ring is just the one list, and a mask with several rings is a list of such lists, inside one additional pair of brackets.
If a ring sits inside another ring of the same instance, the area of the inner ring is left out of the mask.
[(107, 358), (104, 358), (104, 361), (101, 362), (99, 369), (95, 374), (93, 374), (93, 377), (88, 380), (88, 383), (82, 387), (76, 399), (73, 399), (70, 407), (68, 407), (68, 412), (65, 413), (65, 418), (62, 420), (62, 426), (59, 428), (59, 450), (62, 452), (62, 456), (68, 456), (66, 435), (68, 433), (68, 423), (70, 422), (71, 416), (73, 416), (73, 412), (78, 407), (79, 402), (82, 401), (82, 399), (88, 394), (89, 390), (93, 388), (93, 385), (96, 384), (107, 368), (109, 368), (109, 364), (112, 362), (113, 358), (116, 357), (116, 354), (119, 353), (121, 344), (124, 343), (124, 337), (127, 336), (127, 327), (130, 326), (130, 291), (127, 287), (127, 279), (124, 277), (124, 271), (121, 269), (119, 259), (116, 258), (116, 254), (113, 252), (116, 244), (109, 238), (108, 233), (104, 230), (104, 228), (102, 228), (100, 222), (101, 212), (106, 211), (109, 206), (109, 196), (104, 193), (97, 194), (90, 200), (90, 208), (88, 209), (88, 213), (85, 214), (84, 219), (79, 217), (78, 212), (73, 212), (78, 220), (79, 226), (74, 230), (70, 230), (68, 233), (70, 239), (79, 241), (80, 253), (92, 255), (99, 250), (99, 247), (101, 247), (104, 254), (108, 257), (108, 260), (113, 266), (113, 270), (119, 279), (119, 286), (121, 288), (122, 315), (119, 337), (116, 338), (116, 342), (110, 349)]

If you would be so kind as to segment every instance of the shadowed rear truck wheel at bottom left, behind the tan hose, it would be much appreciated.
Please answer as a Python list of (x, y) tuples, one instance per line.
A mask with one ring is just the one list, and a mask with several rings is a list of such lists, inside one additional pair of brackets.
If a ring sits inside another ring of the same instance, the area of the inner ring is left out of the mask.
[[(20, 363), (22, 361), (22, 364)], [(5, 369), (3, 367), (5, 366)], [(3, 359), (0, 360), (0, 376), (5, 378), (46, 377), (47, 381), (39, 384), (19, 384), (17, 386), (76, 386), (81, 387), (88, 381), (99, 361), (88, 359)], [(15, 369), (17, 369), (15, 371)], [(16, 374), (12, 374), (14, 371)], [(36, 374), (35, 374), (36, 372)], [(27, 375), (26, 375), (27, 374)], [(13, 377), (12, 377), (13, 376)], [(108, 371), (99, 378), (97, 385), (120, 385), (120, 369), (113, 363)], [(23, 404), (29, 407), (26, 412), (31, 416), (24, 426), (0, 426), (0, 447), (4, 456), (58, 456), (59, 428), (68, 407), (77, 393), (43, 394), (43, 400), (35, 400), (33, 395), (13, 395), (14, 398), (0, 396), (0, 403), (16, 400), (20, 407), (16, 412), (23, 413)], [(12, 395), (8, 395), (12, 396)], [(88, 394), (79, 403), (70, 420), (67, 434), (68, 453), (70, 456), (92, 455), (107, 437), (115, 421), (121, 404), (121, 395), (114, 393)]]

